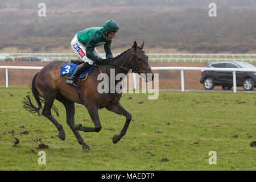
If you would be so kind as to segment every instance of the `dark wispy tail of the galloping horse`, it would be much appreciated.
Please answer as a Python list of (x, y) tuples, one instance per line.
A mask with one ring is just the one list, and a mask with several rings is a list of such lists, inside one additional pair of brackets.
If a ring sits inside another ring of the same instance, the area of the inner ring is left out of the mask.
[(36, 107), (32, 103), (30, 96), (26, 96), (26, 98), (24, 97), (22, 103), (24, 104), (23, 105), (24, 109), (26, 109), (27, 111), (30, 111), (30, 113), (32, 114), (38, 113), (38, 115), (40, 116), (42, 114), (42, 102), (44, 102), (44, 100), (43, 98), (40, 98), (42, 96), (40, 96), (38, 89), (36, 89), (35, 80), (37, 76), (38, 76), (38, 73), (36, 73), (36, 75), (34, 76), (30, 88), (32, 90), (32, 94), (35, 97), (36, 102), (38, 103), (38, 107)]

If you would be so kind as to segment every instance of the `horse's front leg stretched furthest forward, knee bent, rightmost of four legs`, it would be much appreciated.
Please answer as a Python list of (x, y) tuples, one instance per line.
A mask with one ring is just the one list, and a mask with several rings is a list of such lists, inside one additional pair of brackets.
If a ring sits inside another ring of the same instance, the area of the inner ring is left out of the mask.
[(108, 109), (110, 111), (113, 111), (114, 113), (124, 115), (126, 117), (125, 126), (123, 126), (123, 129), (122, 129), (121, 133), (119, 135), (114, 135), (114, 137), (112, 139), (113, 143), (117, 143), (123, 137), (123, 135), (126, 134), (126, 131), (129, 127), (129, 124), (130, 124), (130, 121), (131, 121), (131, 114), (122, 107), (120, 102), (118, 102), (118, 104), (109, 105), (109, 106), (106, 107), (106, 109)]

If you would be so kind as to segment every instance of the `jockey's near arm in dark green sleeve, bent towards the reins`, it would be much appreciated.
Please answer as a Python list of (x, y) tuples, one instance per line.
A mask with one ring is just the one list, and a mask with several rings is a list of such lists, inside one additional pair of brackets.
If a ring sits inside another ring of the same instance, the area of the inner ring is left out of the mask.
[(94, 55), (93, 51), (94, 48), (96, 47), (96, 44), (98, 43), (98, 38), (97, 36), (91, 36), (90, 39), (88, 40), (88, 43), (86, 44), (86, 57), (88, 57), (90, 60), (99, 62), (101, 61), (101, 57), (98, 57)]

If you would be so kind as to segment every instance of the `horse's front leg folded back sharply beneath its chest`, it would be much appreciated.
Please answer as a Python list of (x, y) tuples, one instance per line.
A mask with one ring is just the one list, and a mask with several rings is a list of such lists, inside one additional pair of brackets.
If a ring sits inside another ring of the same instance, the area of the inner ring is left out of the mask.
[(75, 126), (75, 130), (80, 130), (84, 132), (99, 132), (101, 130), (101, 122), (100, 122), (100, 118), (98, 117), (97, 107), (90, 105), (90, 106), (87, 106), (86, 109), (88, 110), (90, 118), (92, 118), (92, 121), (95, 127), (86, 127), (79, 124)]

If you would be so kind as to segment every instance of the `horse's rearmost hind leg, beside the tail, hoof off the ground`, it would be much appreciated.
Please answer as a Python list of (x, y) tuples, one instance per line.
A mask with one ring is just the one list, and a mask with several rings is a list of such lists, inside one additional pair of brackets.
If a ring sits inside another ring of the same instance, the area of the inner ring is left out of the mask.
[(63, 130), (63, 126), (60, 125), (60, 123), (57, 122), (56, 119), (53, 118), (51, 114), (51, 109), (52, 109), (52, 105), (53, 105), (53, 101), (55, 100), (55, 97), (47, 96), (47, 97), (44, 97), (44, 100), (45, 100), (45, 103), (44, 103), (44, 109), (42, 114), (56, 126), (57, 130), (59, 131), (59, 138), (61, 140), (65, 140), (65, 131)]

